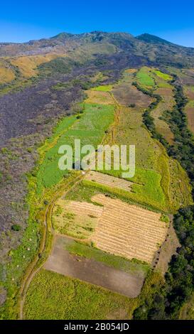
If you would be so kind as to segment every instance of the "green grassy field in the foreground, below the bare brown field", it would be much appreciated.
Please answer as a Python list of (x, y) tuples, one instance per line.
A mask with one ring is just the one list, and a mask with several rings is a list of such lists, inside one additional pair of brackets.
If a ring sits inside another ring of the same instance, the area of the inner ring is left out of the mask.
[(131, 299), (41, 269), (28, 289), (24, 316), (50, 320), (129, 319), (142, 300), (153, 298), (162, 282), (160, 274), (149, 274), (141, 295)]

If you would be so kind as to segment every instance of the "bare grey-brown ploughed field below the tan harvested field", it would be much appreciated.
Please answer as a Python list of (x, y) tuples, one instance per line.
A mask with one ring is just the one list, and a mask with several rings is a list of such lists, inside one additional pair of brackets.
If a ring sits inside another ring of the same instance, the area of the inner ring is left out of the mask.
[(102, 286), (130, 298), (139, 295), (144, 276), (134, 276), (93, 259), (72, 255), (63, 249), (61, 238), (64, 237), (58, 236), (55, 240), (53, 251), (44, 265), (45, 269)]

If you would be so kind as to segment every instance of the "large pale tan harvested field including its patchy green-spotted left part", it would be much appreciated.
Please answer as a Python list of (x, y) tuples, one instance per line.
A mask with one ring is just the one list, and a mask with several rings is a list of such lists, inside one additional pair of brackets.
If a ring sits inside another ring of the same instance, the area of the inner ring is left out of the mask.
[(99, 194), (92, 203), (59, 200), (53, 226), (63, 234), (87, 239), (112, 254), (151, 263), (166, 237), (161, 214)]

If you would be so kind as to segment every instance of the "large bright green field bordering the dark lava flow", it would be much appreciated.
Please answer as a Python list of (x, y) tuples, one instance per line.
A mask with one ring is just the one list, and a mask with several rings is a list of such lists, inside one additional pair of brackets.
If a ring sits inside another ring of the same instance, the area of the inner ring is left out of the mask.
[[(63, 179), (67, 171), (60, 171), (58, 160), (60, 154), (58, 149), (63, 144), (69, 144), (74, 148), (74, 140), (80, 139), (81, 146), (90, 144), (97, 148), (101, 143), (105, 130), (114, 121), (114, 105), (104, 104), (84, 104), (84, 113), (80, 118), (72, 116), (60, 124), (57, 129), (58, 138), (54, 139), (54, 144), (45, 152), (45, 158), (41, 163), (38, 172), (38, 193), (45, 188), (50, 188)], [(48, 143), (49, 144), (49, 143)]]

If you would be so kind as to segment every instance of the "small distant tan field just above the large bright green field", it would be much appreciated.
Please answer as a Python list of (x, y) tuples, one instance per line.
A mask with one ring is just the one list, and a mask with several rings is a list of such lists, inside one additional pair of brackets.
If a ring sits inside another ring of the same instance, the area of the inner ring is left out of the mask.
[(87, 90), (88, 98), (86, 103), (99, 103), (99, 104), (115, 104), (109, 92), (102, 92), (97, 90)]

